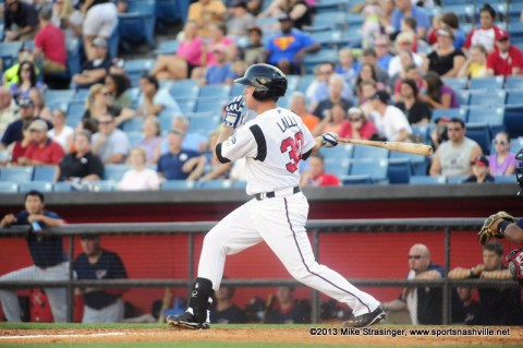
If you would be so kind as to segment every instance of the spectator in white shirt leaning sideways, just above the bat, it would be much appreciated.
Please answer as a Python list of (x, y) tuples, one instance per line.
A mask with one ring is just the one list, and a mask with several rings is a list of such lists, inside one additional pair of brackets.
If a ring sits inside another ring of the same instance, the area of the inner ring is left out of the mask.
[(385, 91), (377, 91), (370, 97), (374, 112), (372, 119), (379, 134), (389, 142), (403, 142), (412, 133), (405, 113), (396, 106), (389, 105), (390, 96)]

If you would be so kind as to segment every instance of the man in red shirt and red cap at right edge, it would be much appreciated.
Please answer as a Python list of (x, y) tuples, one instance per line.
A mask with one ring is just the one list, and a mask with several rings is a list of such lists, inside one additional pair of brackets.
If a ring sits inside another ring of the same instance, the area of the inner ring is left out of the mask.
[(520, 74), (523, 65), (523, 53), (510, 45), (509, 33), (501, 28), (496, 29), (497, 50), (488, 55), (487, 74), (489, 76), (509, 76)]

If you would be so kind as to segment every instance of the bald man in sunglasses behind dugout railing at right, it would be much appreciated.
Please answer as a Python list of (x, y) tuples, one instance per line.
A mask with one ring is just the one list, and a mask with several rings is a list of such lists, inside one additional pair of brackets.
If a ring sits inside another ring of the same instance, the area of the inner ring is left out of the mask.
[[(430, 251), (425, 244), (414, 244), (409, 251), (409, 272), (406, 279), (435, 280), (446, 276), (445, 268), (430, 261)], [(413, 325), (442, 324), (443, 292), (441, 288), (418, 286), (404, 288), (398, 299), (381, 303), (386, 311), (408, 310)], [(458, 293), (452, 291), (452, 321), (460, 316), (461, 304)]]

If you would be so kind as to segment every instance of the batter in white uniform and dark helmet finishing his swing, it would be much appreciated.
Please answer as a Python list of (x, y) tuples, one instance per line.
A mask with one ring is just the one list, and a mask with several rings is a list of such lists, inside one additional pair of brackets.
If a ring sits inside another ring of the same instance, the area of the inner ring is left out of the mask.
[[(335, 147), (338, 134), (314, 139), (297, 115), (277, 106), (287, 91), (287, 77), (277, 68), (254, 64), (235, 82), (245, 89), (243, 96), (227, 105), (216, 155), (221, 163), (245, 158), (246, 191), (253, 199), (206, 235), (188, 309), (181, 315), (168, 316), (169, 325), (209, 328), (209, 299), (220, 287), (226, 256), (262, 241), (295, 279), (352, 308), (354, 316), (345, 326), (379, 323), (385, 319), (379, 302), (318, 264), (305, 230), (308, 203), (299, 187), (300, 159), (321, 146)], [(242, 124), (244, 104), (256, 117)]]

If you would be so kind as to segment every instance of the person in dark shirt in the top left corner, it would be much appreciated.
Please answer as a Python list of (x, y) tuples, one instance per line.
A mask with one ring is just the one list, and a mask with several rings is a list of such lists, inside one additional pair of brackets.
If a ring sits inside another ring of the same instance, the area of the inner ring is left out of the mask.
[(32, 39), (38, 26), (35, 5), (20, 0), (5, 0), (4, 9), (5, 41)]

